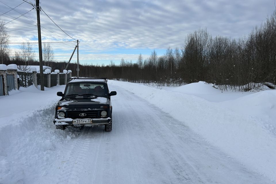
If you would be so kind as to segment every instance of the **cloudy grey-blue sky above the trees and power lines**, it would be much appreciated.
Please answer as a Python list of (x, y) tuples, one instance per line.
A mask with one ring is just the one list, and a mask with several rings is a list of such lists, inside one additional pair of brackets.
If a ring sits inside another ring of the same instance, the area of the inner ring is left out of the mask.
[[(34, 0), (27, 0), (35, 4)], [(40, 0), (45, 13), (72, 38), (78, 39), (79, 60), (87, 64), (116, 64), (148, 57), (153, 49), (181, 47), (198, 28), (231, 38), (247, 36), (275, 10), (274, 0)], [(5, 5), (5, 4), (6, 5)], [(19, 5), (20, 3), (23, 3)], [(16, 11), (11, 10), (15, 8)], [(32, 9), (22, 0), (0, 0), (5, 23)], [(18, 13), (18, 12), (19, 13)], [(21, 13), (21, 14), (20, 14)], [(41, 12), (42, 42), (74, 41)], [(11, 43), (37, 42), (36, 11), (7, 23)], [(12, 19), (11, 19), (12, 18)], [(19, 21), (18, 21), (19, 20)], [(28, 27), (28, 28), (26, 28)], [(21, 29), (22, 28), (22, 29)], [(19, 30), (16, 30), (19, 29)], [(56, 61), (68, 61), (76, 43), (51, 43)], [(11, 55), (20, 44), (10, 44)], [(38, 53), (37, 44), (33, 49)], [(38, 57), (37, 57), (38, 58)], [(37, 59), (36, 58), (36, 59)], [(76, 54), (72, 62), (76, 62)]]

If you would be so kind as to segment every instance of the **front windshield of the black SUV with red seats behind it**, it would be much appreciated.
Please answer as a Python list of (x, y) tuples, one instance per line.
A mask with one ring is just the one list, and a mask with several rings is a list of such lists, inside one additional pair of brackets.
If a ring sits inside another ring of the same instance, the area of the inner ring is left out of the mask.
[(86, 95), (108, 97), (107, 86), (105, 83), (71, 83), (65, 91), (65, 97)]

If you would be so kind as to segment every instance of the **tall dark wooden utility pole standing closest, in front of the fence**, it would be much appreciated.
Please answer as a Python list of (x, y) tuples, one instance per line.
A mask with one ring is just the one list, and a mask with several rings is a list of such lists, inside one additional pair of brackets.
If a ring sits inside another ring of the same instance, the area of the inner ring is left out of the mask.
[(40, 89), (41, 89), (41, 91), (44, 91), (39, 0), (35, 1), (35, 5), (37, 7), (37, 31), (38, 31), (38, 49), (39, 49)]

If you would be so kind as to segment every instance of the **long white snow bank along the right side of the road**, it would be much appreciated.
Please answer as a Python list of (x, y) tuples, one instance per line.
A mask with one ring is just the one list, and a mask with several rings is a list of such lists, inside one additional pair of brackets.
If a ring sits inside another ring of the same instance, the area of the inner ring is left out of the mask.
[[(223, 98), (231, 101), (214, 103), (210, 101), (214, 101), (216, 95), (206, 94), (218, 94), (221, 91), (210, 85), (202, 86), (202, 82), (166, 90), (120, 81), (109, 83), (145, 98), (229, 156), (270, 177), (272, 181), (276, 180), (276, 90), (254, 94), (230, 92)], [(239, 96), (234, 99), (231, 93)], [(235, 107), (237, 109), (233, 110)], [(246, 109), (248, 107), (249, 110)]]

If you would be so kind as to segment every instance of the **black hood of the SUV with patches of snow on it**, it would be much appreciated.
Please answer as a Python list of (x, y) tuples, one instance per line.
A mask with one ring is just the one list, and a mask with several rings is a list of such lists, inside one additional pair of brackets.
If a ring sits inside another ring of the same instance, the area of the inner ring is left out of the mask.
[(64, 106), (66, 108), (98, 108), (101, 105), (109, 105), (110, 99), (106, 97), (96, 98), (72, 98), (61, 99), (58, 102), (58, 106)]

